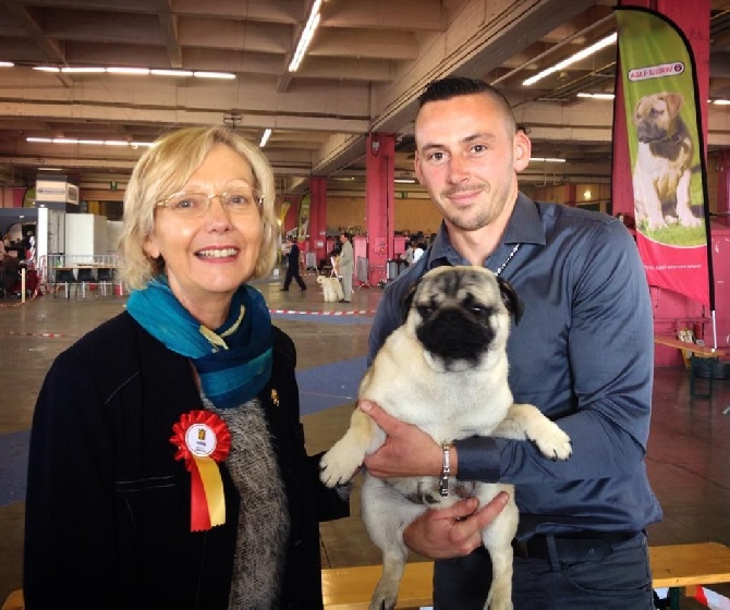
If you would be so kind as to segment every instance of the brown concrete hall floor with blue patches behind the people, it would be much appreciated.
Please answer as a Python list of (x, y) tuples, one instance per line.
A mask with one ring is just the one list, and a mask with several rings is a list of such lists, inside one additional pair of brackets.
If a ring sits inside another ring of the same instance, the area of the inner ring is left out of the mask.
[[(345, 430), (364, 371), (367, 334), (381, 290), (360, 288), (351, 304), (324, 303), (313, 276), (306, 292), (281, 280), (257, 282), (275, 324), (294, 340), (307, 448), (328, 449)], [(0, 300), (0, 602), (21, 586), (23, 499), (28, 429), (36, 394), (56, 355), (121, 312), (124, 297), (41, 296), (25, 304)], [(110, 349), (112, 349), (110, 346)], [(704, 380), (699, 380), (704, 388)], [(665, 520), (649, 528), (652, 545), (716, 540), (730, 545), (730, 381), (717, 380), (711, 400), (691, 400), (683, 369), (656, 370), (648, 469)], [(321, 526), (325, 565), (380, 562), (358, 517)], [(418, 558), (413, 557), (416, 560)], [(730, 595), (728, 587), (713, 587)], [(699, 608), (683, 600), (683, 609)]]

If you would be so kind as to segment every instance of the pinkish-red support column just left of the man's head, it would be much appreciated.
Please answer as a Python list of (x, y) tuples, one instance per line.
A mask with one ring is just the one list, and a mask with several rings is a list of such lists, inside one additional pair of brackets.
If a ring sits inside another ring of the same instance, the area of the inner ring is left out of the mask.
[(388, 259), (394, 256), (396, 136), (393, 134), (368, 134), (365, 147), (368, 282), (370, 285), (376, 285), (380, 280), (386, 279)]

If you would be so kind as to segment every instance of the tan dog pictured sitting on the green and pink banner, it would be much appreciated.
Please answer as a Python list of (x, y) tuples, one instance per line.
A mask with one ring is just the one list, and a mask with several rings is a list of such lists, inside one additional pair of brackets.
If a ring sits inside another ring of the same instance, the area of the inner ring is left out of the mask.
[(698, 227), (692, 213), (692, 136), (679, 115), (684, 98), (678, 93), (642, 97), (634, 111), (638, 149), (634, 166), (636, 224), (648, 230), (669, 224)]

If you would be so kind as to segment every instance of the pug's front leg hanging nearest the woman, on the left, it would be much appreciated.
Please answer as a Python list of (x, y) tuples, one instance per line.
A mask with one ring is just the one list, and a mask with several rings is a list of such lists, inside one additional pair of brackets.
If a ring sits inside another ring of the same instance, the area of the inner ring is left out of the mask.
[(349, 481), (365, 455), (377, 450), (385, 440), (386, 434), (373, 418), (355, 408), (348, 431), (319, 461), (319, 478), (328, 487)]

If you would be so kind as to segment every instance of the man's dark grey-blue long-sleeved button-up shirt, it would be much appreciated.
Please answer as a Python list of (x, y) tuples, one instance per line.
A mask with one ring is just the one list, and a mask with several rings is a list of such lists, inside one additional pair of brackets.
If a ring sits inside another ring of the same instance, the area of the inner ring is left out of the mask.
[[(515, 402), (555, 419), (573, 443), (552, 462), (530, 442), (457, 442), (459, 478), (516, 485), (519, 538), (574, 529), (640, 532), (661, 518), (646, 476), (654, 377), (653, 319), (643, 264), (618, 220), (520, 194), (502, 242), (484, 265), (524, 305), (508, 356)], [(426, 255), (382, 295), (369, 361), (401, 324), (409, 288), (439, 265), (469, 265), (446, 227)]]

